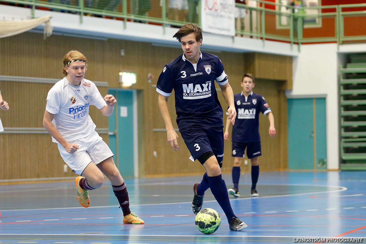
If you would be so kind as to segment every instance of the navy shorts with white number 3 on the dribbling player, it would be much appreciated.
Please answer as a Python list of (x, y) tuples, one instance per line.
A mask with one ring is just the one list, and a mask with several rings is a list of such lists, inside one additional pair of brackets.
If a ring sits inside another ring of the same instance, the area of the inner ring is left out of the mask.
[[(203, 153), (213, 151), (219, 164), (224, 158), (223, 127), (203, 127), (190, 125), (179, 130), (184, 143), (191, 153), (190, 159), (195, 161)], [(220, 164), (221, 166), (221, 164)]]

